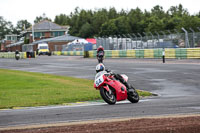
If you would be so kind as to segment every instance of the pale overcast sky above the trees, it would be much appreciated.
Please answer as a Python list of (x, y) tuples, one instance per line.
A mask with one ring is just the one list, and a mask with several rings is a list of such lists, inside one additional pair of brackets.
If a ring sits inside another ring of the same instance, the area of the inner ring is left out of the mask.
[(16, 25), (19, 20), (28, 20), (33, 23), (36, 16), (47, 17), (54, 20), (61, 13), (69, 15), (76, 7), (81, 9), (99, 9), (115, 7), (118, 11), (135, 9), (150, 11), (154, 6), (160, 5), (166, 11), (171, 6), (182, 4), (190, 14), (200, 11), (200, 0), (0, 0), (0, 16), (6, 21)]

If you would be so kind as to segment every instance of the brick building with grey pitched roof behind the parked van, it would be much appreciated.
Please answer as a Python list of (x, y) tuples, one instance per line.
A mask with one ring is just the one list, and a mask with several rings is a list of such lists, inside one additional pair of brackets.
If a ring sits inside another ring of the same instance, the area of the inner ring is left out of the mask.
[(18, 42), (7, 45), (8, 51), (36, 51), (39, 43), (48, 43), (50, 51), (62, 49), (66, 45), (79, 37), (67, 34), (69, 27), (60, 26), (48, 20), (41, 21), (30, 28), (24, 30), (21, 34), (24, 38)]

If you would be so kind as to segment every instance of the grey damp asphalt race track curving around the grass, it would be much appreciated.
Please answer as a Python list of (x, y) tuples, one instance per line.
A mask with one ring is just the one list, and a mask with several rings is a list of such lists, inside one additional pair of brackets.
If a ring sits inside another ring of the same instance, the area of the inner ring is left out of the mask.
[[(129, 77), (137, 89), (159, 96), (116, 105), (86, 103), (0, 110), (0, 128), (50, 123), (200, 114), (200, 60), (105, 59), (107, 68)], [(0, 68), (94, 79), (96, 59), (40, 56), (36, 59), (0, 59)]]

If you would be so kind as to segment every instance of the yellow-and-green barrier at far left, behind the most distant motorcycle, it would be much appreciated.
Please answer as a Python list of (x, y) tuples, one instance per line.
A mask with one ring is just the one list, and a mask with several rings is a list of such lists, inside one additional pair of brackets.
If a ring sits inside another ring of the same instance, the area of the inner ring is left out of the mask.
[[(15, 58), (15, 52), (0, 52), (0, 58)], [(20, 59), (27, 58), (26, 52), (20, 52)]]

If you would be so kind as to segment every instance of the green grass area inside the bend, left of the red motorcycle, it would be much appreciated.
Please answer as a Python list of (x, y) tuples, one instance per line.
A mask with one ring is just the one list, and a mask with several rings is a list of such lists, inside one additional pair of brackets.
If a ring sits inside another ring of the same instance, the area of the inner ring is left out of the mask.
[(101, 98), (93, 80), (0, 69), (0, 109), (96, 99)]

